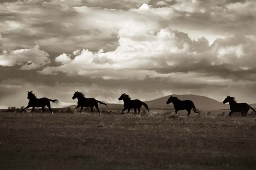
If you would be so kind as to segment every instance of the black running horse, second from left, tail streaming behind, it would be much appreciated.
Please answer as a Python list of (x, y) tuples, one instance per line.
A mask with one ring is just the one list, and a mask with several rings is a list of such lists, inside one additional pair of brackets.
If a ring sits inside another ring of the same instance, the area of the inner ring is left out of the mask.
[(94, 98), (85, 98), (82, 92), (75, 91), (72, 99), (74, 100), (75, 98), (77, 98), (77, 106), (75, 109), (81, 107), (80, 113), (82, 113), (84, 107), (90, 107), (91, 112), (93, 113), (93, 106), (95, 106), (100, 114), (98, 103), (106, 105), (108, 107), (108, 105), (106, 103), (103, 103), (102, 101), (96, 100)]

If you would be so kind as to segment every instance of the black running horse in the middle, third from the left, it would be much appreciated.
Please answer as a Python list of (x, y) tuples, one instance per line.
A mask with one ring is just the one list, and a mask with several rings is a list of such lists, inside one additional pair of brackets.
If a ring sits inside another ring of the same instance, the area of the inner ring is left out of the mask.
[(143, 105), (144, 107), (146, 107), (146, 109), (147, 109), (148, 112), (149, 112), (149, 108), (148, 108), (148, 105), (147, 105), (146, 103), (144, 103), (144, 102), (142, 102), (142, 101), (140, 101), (140, 100), (138, 100), (138, 99), (131, 100), (131, 98), (130, 98), (129, 95), (122, 94), (122, 95), (118, 98), (118, 100), (119, 100), (119, 101), (120, 101), (120, 100), (124, 100), (124, 109), (123, 109), (123, 111), (122, 111), (122, 114), (124, 114), (124, 111), (125, 111), (126, 109), (128, 109), (128, 112), (127, 112), (127, 113), (129, 113), (131, 108), (134, 108), (134, 114), (137, 113), (137, 108), (138, 108), (138, 111), (139, 111), (138, 114), (140, 114), (140, 108), (141, 108), (142, 105)]

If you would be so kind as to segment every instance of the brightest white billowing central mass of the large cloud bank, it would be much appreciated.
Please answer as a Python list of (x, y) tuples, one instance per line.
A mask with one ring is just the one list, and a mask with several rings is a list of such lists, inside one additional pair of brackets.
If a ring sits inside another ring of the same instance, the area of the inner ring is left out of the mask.
[(62, 54), (55, 58), (55, 61), (62, 65), (45, 67), (40, 73), (64, 72), (68, 75), (78, 74), (104, 79), (144, 79), (148, 75), (165, 77), (163, 74), (156, 73), (154, 69), (168, 66), (167, 63), (172, 62), (174, 58), (168, 58), (167, 55), (202, 53), (209, 48), (205, 38), (193, 41), (186, 33), (169, 28), (161, 29), (157, 33), (144, 33), (144, 35), (145, 37), (138, 39), (121, 33), (120, 45), (113, 52), (104, 53), (103, 50), (99, 50), (93, 53), (87, 49), (79, 52), (76, 50), (73, 52), (73, 60), (67, 57), (67, 54)]

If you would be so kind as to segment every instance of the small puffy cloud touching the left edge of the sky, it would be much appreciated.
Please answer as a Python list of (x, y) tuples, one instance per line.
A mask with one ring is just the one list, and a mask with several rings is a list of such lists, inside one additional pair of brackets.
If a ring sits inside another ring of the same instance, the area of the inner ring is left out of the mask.
[(3, 50), (2, 54), (0, 54), (0, 65), (21, 65), (21, 70), (36, 69), (49, 64), (49, 62), (49, 54), (40, 50), (38, 45), (31, 49)]

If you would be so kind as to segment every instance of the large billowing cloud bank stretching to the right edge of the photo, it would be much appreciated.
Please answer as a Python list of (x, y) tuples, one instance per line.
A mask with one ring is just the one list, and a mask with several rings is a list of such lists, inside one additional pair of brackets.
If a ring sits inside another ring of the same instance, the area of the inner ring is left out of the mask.
[[(217, 39), (212, 45), (204, 37), (197, 40), (170, 28), (134, 37), (121, 33), (113, 52), (75, 51), (73, 59), (60, 66), (45, 67), (41, 74), (84, 75), (103, 79), (172, 77), (172, 73), (200, 73), (230, 79), (252, 79), (256, 41), (238, 36)], [(61, 55), (62, 56), (62, 55)], [(65, 54), (65, 56), (67, 56)], [(58, 56), (56, 58), (59, 60)], [(249, 75), (241, 78), (242, 74)]]

